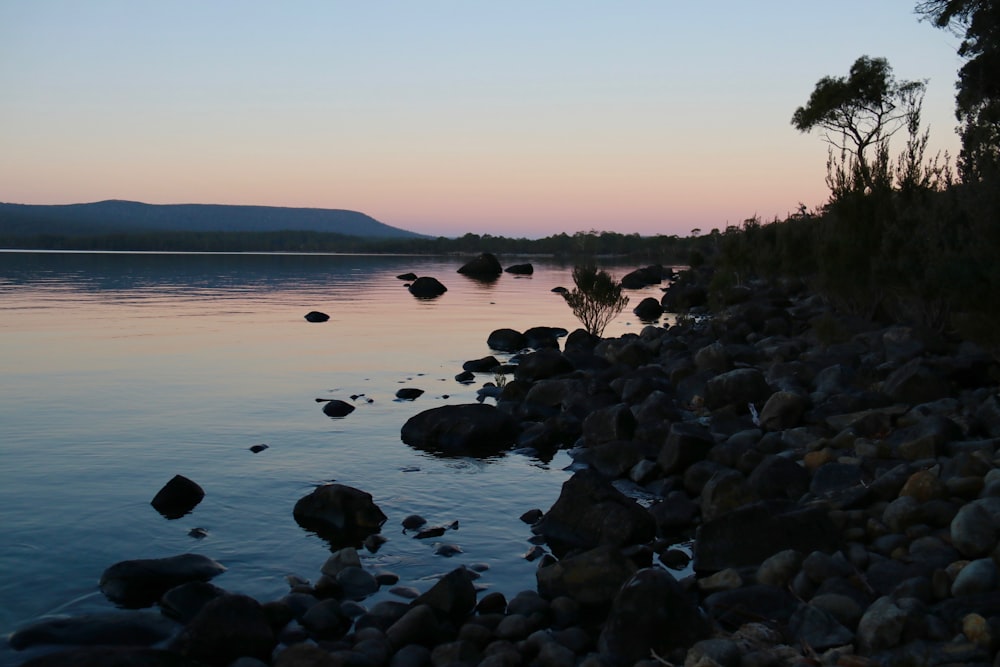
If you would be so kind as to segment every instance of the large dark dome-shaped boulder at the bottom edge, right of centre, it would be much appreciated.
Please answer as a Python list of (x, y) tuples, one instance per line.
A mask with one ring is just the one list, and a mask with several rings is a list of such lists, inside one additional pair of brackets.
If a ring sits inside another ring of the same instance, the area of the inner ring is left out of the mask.
[(621, 587), (598, 639), (602, 659), (632, 665), (687, 649), (709, 636), (708, 623), (677, 580), (661, 568), (639, 570)]

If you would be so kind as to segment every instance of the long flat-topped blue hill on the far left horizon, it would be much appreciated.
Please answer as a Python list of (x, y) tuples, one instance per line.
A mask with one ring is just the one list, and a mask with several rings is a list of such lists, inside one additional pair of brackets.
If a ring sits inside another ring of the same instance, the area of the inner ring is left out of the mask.
[(0, 236), (91, 236), (150, 232), (310, 231), (363, 238), (426, 238), (357, 211), (220, 204), (143, 204), (112, 199), (92, 204), (0, 203)]

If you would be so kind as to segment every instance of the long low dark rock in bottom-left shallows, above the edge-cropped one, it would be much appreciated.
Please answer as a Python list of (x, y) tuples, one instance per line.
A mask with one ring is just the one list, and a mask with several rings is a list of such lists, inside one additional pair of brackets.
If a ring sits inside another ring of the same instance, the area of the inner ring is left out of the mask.
[(172, 635), (179, 626), (152, 612), (107, 612), (46, 618), (11, 633), (15, 651), (38, 644), (95, 646), (152, 646)]

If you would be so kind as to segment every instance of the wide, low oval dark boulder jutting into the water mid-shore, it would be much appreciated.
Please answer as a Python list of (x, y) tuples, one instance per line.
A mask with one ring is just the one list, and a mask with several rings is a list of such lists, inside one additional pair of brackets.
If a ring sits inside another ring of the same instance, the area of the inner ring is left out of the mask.
[(491, 405), (443, 405), (410, 417), (400, 432), (403, 442), (445, 456), (488, 456), (511, 447), (517, 423)]

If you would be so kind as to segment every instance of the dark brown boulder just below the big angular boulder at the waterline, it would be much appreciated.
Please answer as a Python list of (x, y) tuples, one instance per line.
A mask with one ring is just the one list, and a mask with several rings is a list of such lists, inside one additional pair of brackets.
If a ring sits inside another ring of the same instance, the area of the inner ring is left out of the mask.
[(619, 549), (604, 545), (540, 567), (535, 578), (538, 594), (547, 600), (565, 596), (584, 607), (607, 609), (635, 571)]

